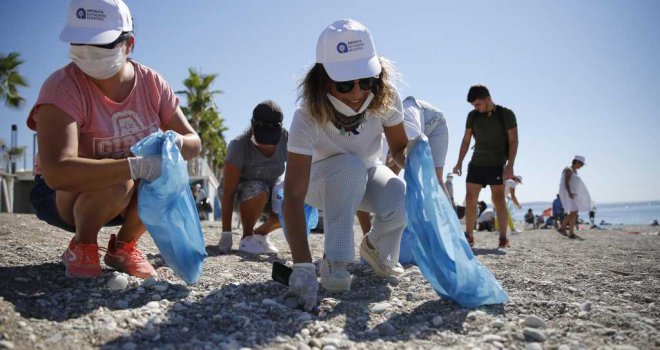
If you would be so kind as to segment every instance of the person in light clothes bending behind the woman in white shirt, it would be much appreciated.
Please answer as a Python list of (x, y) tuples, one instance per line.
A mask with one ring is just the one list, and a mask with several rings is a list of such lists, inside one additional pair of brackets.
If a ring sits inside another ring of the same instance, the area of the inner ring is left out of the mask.
[[(426, 101), (408, 96), (403, 100), (403, 126), (409, 140), (415, 139), (422, 134), (428, 139), (438, 183), (453, 206), (452, 197), (447, 192), (444, 181), (442, 181), (445, 158), (447, 157), (447, 146), (449, 144), (449, 131), (442, 112)], [(395, 174), (399, 174), (401, 168), (394, 162), (386, 142), (383, 142), (383, 155), (385, 165), (392, 169)], [(362, 233), (366, 234), (371, 230), (371, 217), (369, 213), (362, 211), (358, 211), (357, 216), (360, 221)]]

